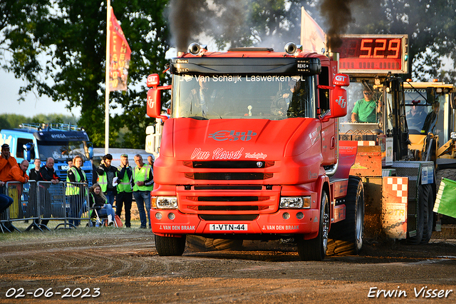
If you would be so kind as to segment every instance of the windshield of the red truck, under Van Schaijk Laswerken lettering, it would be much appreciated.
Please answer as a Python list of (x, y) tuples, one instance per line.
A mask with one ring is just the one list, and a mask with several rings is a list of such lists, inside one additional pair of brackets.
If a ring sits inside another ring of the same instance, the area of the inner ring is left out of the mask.
[(173, 75), (173, 117), (314, 118), (314, 76)]

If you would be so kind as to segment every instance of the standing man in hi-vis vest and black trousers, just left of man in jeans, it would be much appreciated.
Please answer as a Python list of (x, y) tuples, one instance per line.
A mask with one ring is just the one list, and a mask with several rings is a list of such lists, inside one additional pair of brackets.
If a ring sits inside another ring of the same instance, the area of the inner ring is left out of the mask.
[(130, 164), (128, 163), (128, 155), (122, 154), (120, 156), (120, 166), (118, 166), (118, 186), (117, 196), (115, 197), (115, 214), (120, 218), (122, 215), (122, 207), (125, 205), (125, 227), (131, 227), (131, 203), (133, 201), (131, 179), (133, 172)]

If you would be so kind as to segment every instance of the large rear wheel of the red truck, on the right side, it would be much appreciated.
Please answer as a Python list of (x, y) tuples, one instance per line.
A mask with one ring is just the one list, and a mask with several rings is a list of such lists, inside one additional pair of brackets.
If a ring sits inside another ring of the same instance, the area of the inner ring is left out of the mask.
[[(361, 178), (350, 176), (346, 201), (346, 219), (331, 225), (331, 251), (338, 255), (358, 254), (363, 248), (364, 188)], [(334, 247), (334, 248), (332, 248)]]

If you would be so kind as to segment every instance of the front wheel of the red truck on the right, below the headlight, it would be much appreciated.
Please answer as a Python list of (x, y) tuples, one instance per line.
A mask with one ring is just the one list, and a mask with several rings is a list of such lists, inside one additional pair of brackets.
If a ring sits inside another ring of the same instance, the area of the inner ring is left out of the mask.
[(329, 203), (326, 191), (321, 193), (320, 228), (318, 235), (311, 240), (297, 237), (298, 253), (301, 260), (323, 260), (328, 249)]

